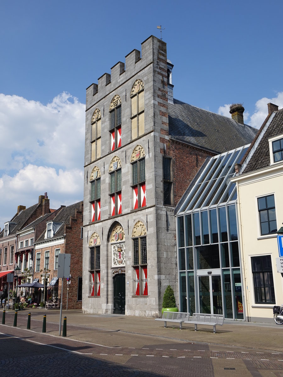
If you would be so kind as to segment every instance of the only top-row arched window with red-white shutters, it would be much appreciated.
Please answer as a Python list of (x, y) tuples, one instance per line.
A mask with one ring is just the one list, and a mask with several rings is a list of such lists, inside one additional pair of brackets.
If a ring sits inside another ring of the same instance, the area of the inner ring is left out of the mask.
[(121, 98), (116, 94), (109, 107), (111, 150), (121, 147), (122, 109)]

